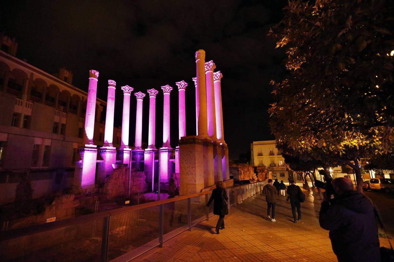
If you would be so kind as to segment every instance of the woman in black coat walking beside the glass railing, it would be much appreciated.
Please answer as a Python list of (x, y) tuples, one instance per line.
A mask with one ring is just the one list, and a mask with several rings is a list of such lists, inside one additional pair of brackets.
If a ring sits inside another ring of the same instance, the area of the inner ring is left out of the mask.
[(212, 200), (214, 200), (214, 214), (219, 216), (216, 224), (216, 234), (219, 234), (219, 228), (224, 229), (224, 216), (229, 214), (229, 209), (227, 209), (227, 205), (223, 203), (223, 198), (228, 200), (226, 190), (224, 189), (223, 182), (217, 181), (216, 189), (212, 190), (211, 198), (206, 204), (207, 207), (211, 204)]

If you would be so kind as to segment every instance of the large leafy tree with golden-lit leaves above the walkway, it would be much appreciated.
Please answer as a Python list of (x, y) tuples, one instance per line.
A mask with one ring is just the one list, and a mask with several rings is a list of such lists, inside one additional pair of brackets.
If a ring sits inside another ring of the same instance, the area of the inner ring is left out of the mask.
[(269, 32), (290, 71), (271, 82), (271, 130), (300, 156), (351, 167), (361, 191), (359, 158), (394, 145), (394, 5), (293, 0), (285, 9)]

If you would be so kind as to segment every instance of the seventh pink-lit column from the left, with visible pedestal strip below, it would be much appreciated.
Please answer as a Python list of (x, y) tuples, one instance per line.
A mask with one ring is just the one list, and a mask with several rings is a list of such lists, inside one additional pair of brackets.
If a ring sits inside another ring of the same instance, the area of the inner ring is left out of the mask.
[[(185, 81), (176, 82), (178, 86), (178, 137), (186, 136), (186, 108), (185, 108), (185, 92), (188, 83)], [(179, 142), (179, 141), (178, 141)], [(175, 148), (175, 173), (179, 174), (179, 145)]]

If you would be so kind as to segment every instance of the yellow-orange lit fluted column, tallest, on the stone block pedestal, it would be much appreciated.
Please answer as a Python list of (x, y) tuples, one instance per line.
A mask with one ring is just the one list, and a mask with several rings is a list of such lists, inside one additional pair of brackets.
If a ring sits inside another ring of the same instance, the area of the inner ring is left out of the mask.
[(195, 59), (199, 94), (198, 136), (201, 138), (209, 138), (206, 112), (205, 51), (203, 49), (197, 50)]

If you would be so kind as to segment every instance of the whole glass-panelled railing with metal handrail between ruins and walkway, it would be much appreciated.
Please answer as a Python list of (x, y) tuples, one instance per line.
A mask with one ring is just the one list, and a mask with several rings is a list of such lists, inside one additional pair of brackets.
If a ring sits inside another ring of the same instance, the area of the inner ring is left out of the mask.
[[(258, 194), (265, 184), (260, 181), (227, 187), (228, 207)], [(162, 247), (163, 242), (213, 216), (214, 205), (206, 207), (211, 194), (206, 191), (2, 231), (0, 255), (7, 261), (24, 261), (32, 256), (48, 261), (59, 257), (73, 261), (129, 261)], [(22, 240), (35, 244), (20, 245)], [(126, 251), (130, 246), (133, 249)]]

